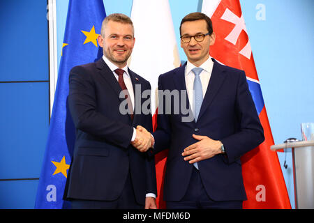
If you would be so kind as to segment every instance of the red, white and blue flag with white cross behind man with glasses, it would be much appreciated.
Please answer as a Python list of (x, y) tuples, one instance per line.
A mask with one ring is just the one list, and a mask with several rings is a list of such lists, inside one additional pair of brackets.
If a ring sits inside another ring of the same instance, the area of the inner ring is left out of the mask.
[(244, 208), (291, 208), (274, 145), (260, 82), (239, 0), (204, 0), (202, 13), (211, 17), (216, 42), (210, 54), (220, 63), (246, 72), (265, 141), (241, 157), (247, 201)]

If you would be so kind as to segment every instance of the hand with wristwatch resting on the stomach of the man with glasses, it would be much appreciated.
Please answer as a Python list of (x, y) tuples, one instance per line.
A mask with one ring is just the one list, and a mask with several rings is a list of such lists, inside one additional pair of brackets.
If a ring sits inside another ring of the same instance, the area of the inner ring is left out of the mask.
[(193, 134), (193, 138), (199, 141), (186, 147), (184, 153), (182, 153), (183, 156), (186, 156), (184, 157), (184, 160), (188, 161), (190, 164), (209, 159), (214, 157), (214, 155), (221, 153), (220, 141), (196, 134)]

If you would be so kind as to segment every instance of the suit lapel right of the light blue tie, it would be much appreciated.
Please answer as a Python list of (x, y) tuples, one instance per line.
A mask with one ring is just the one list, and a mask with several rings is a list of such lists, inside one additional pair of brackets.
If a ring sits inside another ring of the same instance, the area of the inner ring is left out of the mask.
[(207, 91), (204, 96), (204, 100), (202, 102), (202, 107), (200, 109), (200, 114), (197, 118), (197, 120), (200, 120), (204, 112), (206, 111), (207, 107), (211, 105), (211, 102), (216, 97), (218, 90), (220, 89), (221, 84), (223, 84), (225, 80), (225, 75), (223, 72), (225, 70), (223, 69), (223, 66), (220, 66), (218, 62), (216, 62), (214, 59), (214, 66), (213, 70), (211, 72), (211, 79), (209, 80), (209, 84), (207, 86)]

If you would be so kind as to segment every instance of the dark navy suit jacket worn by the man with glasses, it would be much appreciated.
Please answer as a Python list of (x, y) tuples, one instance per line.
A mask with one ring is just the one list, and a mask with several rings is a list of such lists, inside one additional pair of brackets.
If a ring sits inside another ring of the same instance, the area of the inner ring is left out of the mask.
[[(184, 197), (190, 181), (193, 164), (184, 161), (184, 148), (197, 142), (192, 134), (205, 135), (220, 140), (226, 154), (219, 154), (198, 162), (205, 190), (216, 201), (245, 200), (246, 192), (241, 174), (241, 155), (264, 141), (264, 132), (257, 116), (244, 71), (220, 65), (214, 59), (211, 79), (204, 95), (200, 114), (190, 122), (182, 121), (182, 109), (174, 114), (165, 114), (158, 105), (157, 129), (154, 133), (154, 153), (170, 148), (167, 157), (164, 185), (165, 201), (179, 201)], [(159, 90), (185, 90), (186, 64), (158, 79)], [(159, 98), (163, 97), (159, 95)], [(159, 99), (160, 101), (160, 99)], [(187, 94), (179, 94), (180, 105), (189, 105)], [(159, 114), (163, 113), (163, 114)], [(169, 112), (168, 112), (169, 113)]]

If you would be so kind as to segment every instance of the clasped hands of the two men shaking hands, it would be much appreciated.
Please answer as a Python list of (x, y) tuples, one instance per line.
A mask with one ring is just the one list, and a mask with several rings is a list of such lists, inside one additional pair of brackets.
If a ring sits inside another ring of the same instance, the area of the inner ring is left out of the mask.
[(144, 153), (154, 145), (154, 137), (141, 125), (136, 127), (136, 137), (131, 144), (137, 148), (138, 151)]

